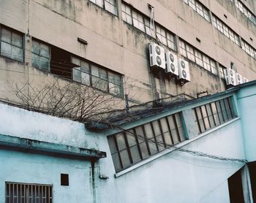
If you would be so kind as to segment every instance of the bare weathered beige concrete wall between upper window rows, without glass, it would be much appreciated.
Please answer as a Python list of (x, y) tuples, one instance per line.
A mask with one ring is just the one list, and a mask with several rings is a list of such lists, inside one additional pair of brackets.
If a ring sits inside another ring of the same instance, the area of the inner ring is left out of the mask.
[[(244, 22), (244, 17), (232, 2), (221, 0), (201, 2), (242, 38), (256, 47), (256, 41), (249, 39), (255, 38), (255, 27)], [(128, 93), (129, 99), (134, 102), (148, 102), (156, 99), (155, 91), (160, 93), (162, 98), (178, 93), (196, 96), (202, 91), (216, 93), (225, 90), (225, 85), (218, 76), (201, 69), (192, 62), (189, 62), (192, 81), (183, 87), (173, 81), (159, 80), (152, 76), (148, 67), (149, 37), (123, 22), (121, 1), (118, 0), (117, 3), (118, 16), (114, 16), (87, 0), (23, 0), (18, 4), (14, 0), (4, 1), (1, 4), (0, 23), (15, 28), (23, 34), (26, 34), (29, 29), (31, 37), (124, 74), (124, 93)], [(183, 1), (143, 0), (127, 1), (127, 3), (148, 16), (150, 10), (147, 4), (151, 4), (155, 8), (157, 23), (214, 58), (219, 64), (228, 67), (230, 61), (233, 61), (239, 73), (248, 77), (249, 80), (255, 79), (255, 59), (217, 31), (211, 23), (200, 17)], [(253, 7), (254, 3), (249, 1), (246, 5)], [(8, 18), (11, 13), (15, 15)], [(77, 40), (78, 37), (85, 39), (89, 44), (81, 45)], [(197, 42), (196, 37), (200, 42)], [(29, 45), (26, 41), (28, 51)], [(26, 57), (26, 62), (31, 63), (30, 57)], [(0, 66), (7, 65), (0, 61)], [(1, 72), (4, 71), (1, 70)], [(30, 71), (29, 74), (31, 74)], [(1, 81), (11, 80), (12, 77), (16, 77), (15, 74), (10, 74)], [(42, 80), (45, 80), (45, 77), (42, 77)]]

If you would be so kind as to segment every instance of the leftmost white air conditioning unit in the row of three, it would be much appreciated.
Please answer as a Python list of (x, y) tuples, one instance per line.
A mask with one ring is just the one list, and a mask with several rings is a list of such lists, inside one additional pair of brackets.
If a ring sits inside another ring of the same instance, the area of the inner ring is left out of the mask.
[(165, 69), (165, 49), (155, 43), (149, 45), (149, 59), (151, 67)]

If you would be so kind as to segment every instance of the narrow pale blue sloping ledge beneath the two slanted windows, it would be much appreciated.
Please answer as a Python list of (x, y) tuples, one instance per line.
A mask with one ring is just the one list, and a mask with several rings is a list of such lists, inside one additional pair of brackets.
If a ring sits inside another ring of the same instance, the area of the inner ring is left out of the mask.
[[(181, 143), (178, 143), (177, 145), (175, 145), (175, 147), (176, 148), (184, 147), (185, 145), (188, 145), (189, 143), (194, 142), (195, 140), (200, 139), (201, 137), (204, 137), (207, 134), (211, 134), (212, 132), (217, 131), (218, 129), (221, 129), (222, 127), (227, 126), (230, 123), (235, 122), (236, 120), (240, 120), (240, 117), (237, 117), (237, 118), (234, 118), (232, 120), (229, 120), (226, 123), (223, 123), (222, 125), (216, 126), (214, 129), (210, 129), (208, 131), (205, 131), (202, 134), (199, 134), (199, 135), (197, 135), (196, 137), (194, 137), (192, 139), (187, 139), (187, 140), (185, 140), (185, 141), (183, 141)], [(151, 156), (151, 157), (149, 157), (149, 158), (147, 158), (147, 159), (145, 159), (143, 161), (140, 161), (138, 164), (134, 164), (133, 166), (130, 166), (129, 168), (124, 169), (121, 172), (117, 172), (115, 174), (115, 177), (120, 177), (121, 175), (124, 175), (127, 172), (130, 172), (130, 171), (132, 171), (134, 169), (137, 169), (140, 166), (148, 164), (149, 162), (154, 161), (155, 159), (160, 158), (161, 156), (165, 156), (167, 153), (170, 153), (170, 152), (172, 152), (174, 150), (176, 150), (176, 149), (169, 148), (169, 149), (163, 150), (162, 152), (159, 152), (159, 153), (155, 154), (154, 156)]]

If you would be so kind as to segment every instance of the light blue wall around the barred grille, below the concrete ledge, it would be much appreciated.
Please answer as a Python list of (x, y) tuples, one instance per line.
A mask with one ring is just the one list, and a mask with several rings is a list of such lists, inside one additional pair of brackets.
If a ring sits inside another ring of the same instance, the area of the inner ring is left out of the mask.
[[(0, 202), (6, 181), (53, 185), (54, 203), (93, 202), (89, 161), (0, 150), (0, 163)], [(61, 173), (69, 174), (69, 186), (61, 186)]]

